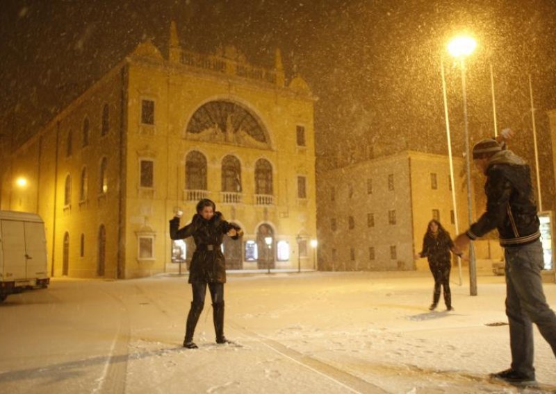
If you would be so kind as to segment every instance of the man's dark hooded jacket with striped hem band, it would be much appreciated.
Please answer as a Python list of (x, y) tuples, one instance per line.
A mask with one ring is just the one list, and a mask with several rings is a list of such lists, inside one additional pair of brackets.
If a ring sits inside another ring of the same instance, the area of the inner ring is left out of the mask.
[(500, 151), (491, 156), (485, 174), (486, 212), (467, 230), (467, 236), (477, 239), (498, 228), (501, 246), (520, 246), (539, 239), (528, 164), (512, 151)]

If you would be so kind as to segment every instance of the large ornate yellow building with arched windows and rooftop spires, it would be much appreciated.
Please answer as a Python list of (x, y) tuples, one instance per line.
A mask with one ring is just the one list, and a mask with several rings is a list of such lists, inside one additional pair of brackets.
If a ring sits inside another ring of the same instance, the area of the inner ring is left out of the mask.
[(168, 58), (140, 44), (12, 153), (0, 207), (42, 216), (54, 276), (177, 271), (194, 246), (167, 223), (200, 198), (245, 230), (228, 268), (313, 268), (315, 101), (279, 51), (270, 69), (189, 52), (172, 23)]

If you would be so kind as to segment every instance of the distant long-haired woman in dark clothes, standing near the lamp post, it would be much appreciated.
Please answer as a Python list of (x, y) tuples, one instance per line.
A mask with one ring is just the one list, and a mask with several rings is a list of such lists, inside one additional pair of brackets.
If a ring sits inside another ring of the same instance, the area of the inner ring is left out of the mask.
[(415, 256), (417, 259), (427, 257), (429, 268), (434, 277), (434, 293), (429, 309), (436, 309), (440, 300), (440, 288), (444, 290), (444, 303), (448, 311), (452, 311), (452, 293), (450, 292), (450, 270), (452, 268), (450, 250), (455, 255), (461, 255), (454, 246), (450, 234), (439, 221), (432, 219), (427, 225), (427, 232), (423, 237), (423, 249)]

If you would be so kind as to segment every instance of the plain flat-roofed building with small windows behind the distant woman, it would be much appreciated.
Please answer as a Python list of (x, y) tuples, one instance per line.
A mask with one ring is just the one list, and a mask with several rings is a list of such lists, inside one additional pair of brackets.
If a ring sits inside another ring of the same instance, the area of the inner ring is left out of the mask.
[[(453, 163), (461, 231), (468, 223), (465, 167), (461, 158)], [(320, 268), (416, 269), (414, 255), (431, 219), (439, 220), (455, 237), (451, 183), (448, 157), (414, 151), (319, 173)], [(482, 241), (476, 241), (475, 247), (482, 250)], [(426, 265), (426, 260), (418, 264)]]

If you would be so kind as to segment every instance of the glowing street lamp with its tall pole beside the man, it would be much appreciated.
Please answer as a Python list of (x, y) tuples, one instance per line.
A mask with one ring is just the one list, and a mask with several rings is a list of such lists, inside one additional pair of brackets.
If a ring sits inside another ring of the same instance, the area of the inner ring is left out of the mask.
[[(465, 58), (471, 55), (477, 42), (473, 37), (460, 35), (453, 38), (448, 43), (448, 51), (452, 56), (461, 61), (461, 90), (464, 96), (464, 132), (465, 132), (465, 162), (467, 169), (467, 210), (469, 216), (469, 225), (473, 223), (473, 215), (471, 213), (471, 164), (469, 161), (469, 132), (467, 122), (467, 96), (465, 87)], [(477, 295), (477, 267), (475, 266), (475, 248), (473, 242), (469, 243), (469, 290), (471, 295)]]

